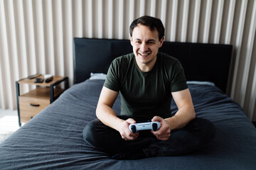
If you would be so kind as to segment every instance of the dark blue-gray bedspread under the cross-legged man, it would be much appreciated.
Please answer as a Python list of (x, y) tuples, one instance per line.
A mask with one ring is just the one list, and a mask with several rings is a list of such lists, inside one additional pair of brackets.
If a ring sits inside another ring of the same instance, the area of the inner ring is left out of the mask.
[[(117, 161), (82, 140), (96, 118), (103, 80), (87, 80), (65, 91), (48, 108), (0, 144), (0, 169), (256, 169), (256, 129), (215, 86), (189, 84), (196, 115), (211, 120), (215, 139), (179, 157)], [(171, 104), (173, 113), (177, 108)], [(114, 103), (119, 113), (120, 98)]]

